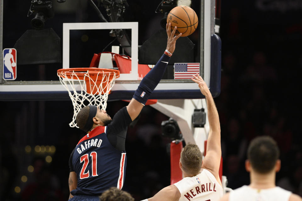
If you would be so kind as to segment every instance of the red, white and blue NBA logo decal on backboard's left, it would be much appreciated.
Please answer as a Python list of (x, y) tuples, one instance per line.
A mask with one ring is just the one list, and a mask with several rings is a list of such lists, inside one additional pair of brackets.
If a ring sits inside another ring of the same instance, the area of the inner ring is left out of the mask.
[(17, 78), (17, 51), (14, 48), (3, 50), (3, 79), (15, 80)]

